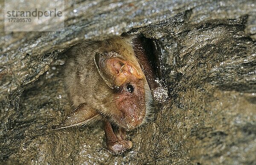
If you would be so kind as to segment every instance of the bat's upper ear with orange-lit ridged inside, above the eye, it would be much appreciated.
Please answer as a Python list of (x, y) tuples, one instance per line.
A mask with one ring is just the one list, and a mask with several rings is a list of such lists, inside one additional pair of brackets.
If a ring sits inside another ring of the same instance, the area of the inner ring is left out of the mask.
[(119, 89), (121, 85), (131, 78), (143, 78), (143, 75), (139, 73), (131, 62), (114, 52), (97, 53), (94, 57), (94, 62), (102, 79), (110, 88)]

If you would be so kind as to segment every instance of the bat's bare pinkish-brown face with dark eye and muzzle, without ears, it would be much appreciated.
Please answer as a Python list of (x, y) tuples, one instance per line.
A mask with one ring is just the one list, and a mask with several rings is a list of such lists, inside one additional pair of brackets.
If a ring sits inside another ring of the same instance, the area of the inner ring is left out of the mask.
[(143, 123), (146, 113), (146, 96), (144, 79), (133, 78), (126, 81), (115, 96), (116, 114), (113, 120), (126, 129), (133, 129)]

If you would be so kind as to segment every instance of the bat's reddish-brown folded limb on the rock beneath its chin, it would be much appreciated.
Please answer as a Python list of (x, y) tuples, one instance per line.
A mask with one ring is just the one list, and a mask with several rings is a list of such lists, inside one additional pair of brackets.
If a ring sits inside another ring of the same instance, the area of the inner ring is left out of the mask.
[(107, 141), (107, 149), (112, 154), (122, 154), (132, 147), (132, 142), (125, 140), (125, 129), (119, 128), (118, 131), (114, 133), (109, 122), (105, 122), (105, 136)]

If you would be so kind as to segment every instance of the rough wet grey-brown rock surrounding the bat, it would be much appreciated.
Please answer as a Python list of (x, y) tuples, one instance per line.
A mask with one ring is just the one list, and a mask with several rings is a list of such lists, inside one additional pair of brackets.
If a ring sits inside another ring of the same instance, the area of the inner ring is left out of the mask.
[[(76, 0), (65, 7), (65, 31), (0, 32), (2, 164), (256, 163), (254, 1)], [(3, 15), (0, 22), (3, 29)], [(155, 104), (147, 127), (128, 134), (133, 148), (108, 153), (100, 122), (52, 130), (70, 111), (61, 53), (132, 28), (160, 40), (171, 96)]]

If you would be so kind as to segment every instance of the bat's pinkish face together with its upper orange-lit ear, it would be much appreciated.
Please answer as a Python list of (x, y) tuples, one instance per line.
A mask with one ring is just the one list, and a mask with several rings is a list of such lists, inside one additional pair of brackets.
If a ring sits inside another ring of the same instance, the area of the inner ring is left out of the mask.
[(113, 51), (96, 54), (95, 63), (108, 88), (113, 90), (111, 106), (102, 113), (126, 129), (145, 122), (152, 96), (140, 65)]

